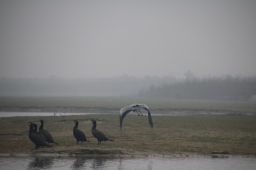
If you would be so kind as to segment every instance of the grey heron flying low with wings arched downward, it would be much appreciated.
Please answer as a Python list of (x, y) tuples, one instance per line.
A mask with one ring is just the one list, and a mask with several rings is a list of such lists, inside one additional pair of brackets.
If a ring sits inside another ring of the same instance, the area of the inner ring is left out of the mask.
[[(119, 120), (120, 120), (120, 130), (121, 130), (121, 132), (122, 132), (122, 123), (123, 123), (124, 117), (125, 117), (129, 112), (131, 112), (131, 111), (133, 111), (133, 112), (136, 111), (137, 114), (138, 114), (138, 116), (139, 116), (139, 115), (143, 116), (143, 115), (141, 114), (141, 112), (140, 112), (140, 109), (145, 109), (145, 110), (148, 111), (148, 122), (149, 122), (150, 128), (153, 128), (153, 121), (152, 121), (152, 117), (151, 117), (151, 114), (150, 114), (150, 111), (149, 111), (148, 106), (145, 105), (145, 104), (132, 104), (132, 105), (130, 105), (130, 106), (125, 106), (125, 107), (121, 108), (121, 110), (120, 110)], [(140, 114), (138, 113), (137, 110), (139, 110)]]

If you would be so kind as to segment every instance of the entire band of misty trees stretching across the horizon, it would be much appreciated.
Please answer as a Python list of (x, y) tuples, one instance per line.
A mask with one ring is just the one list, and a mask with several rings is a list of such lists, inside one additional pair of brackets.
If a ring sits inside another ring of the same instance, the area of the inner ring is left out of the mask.
[(231, 100), (256, 99), (255, 76), (185, 78), (173, 75), (136, 78), (6, 78), (0, 77), (0, 96), (137, 96), (170, 99)]

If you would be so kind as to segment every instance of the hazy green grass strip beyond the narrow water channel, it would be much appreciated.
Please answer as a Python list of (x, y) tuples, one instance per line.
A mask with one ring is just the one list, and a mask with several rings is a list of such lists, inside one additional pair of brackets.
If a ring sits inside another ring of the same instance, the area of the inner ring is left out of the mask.
[(145, 103), (150, 109), (212, 109), (256, 113), (255, 102), (145, 99), (135, 97), (0, 97), (0, 107), (104, 107)]

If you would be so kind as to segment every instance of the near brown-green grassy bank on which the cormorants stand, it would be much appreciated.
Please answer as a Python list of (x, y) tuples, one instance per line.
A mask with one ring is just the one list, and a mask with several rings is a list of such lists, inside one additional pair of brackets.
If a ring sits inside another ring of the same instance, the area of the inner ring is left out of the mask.
[[(28, 139), (27, 122), (44, 120), (48, 130), (60, 145), (30, 150), (35, 145)], [(91, 119), (97, 128), (115, 142), (102, 142), (92, 136)], [(124, 155), (209, 155), (213, 151), (232, 155), (256, 155), (256, 115), (193, 115), (152, 116), (150, 129), (147, 116), (130, 113), (124, 118), (122, 133), (119, 115), (73, 115), (0, 118), (0, 150), (2, 153), (64, 153), (64, 154), (124, 154)], [(73, 120), (91, 142), (76, 144)]]

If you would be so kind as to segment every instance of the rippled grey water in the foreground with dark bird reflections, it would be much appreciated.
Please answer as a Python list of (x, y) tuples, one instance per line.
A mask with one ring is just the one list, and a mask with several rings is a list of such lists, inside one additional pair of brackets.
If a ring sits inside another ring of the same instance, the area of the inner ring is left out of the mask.
[(0, 156), (0, 169), (255, 169), (256, 157)]

